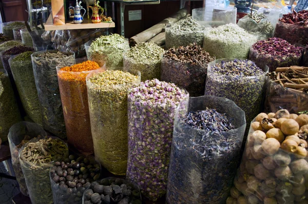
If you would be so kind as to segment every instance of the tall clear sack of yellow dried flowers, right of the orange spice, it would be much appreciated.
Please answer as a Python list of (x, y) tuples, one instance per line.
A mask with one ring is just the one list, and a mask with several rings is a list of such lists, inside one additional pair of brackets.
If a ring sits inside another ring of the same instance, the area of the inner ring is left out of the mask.
[(140, 84), (140, 72), (107, 70), (87, 77), (94, 154), (115, 175), (127, 167), (127, 90)]

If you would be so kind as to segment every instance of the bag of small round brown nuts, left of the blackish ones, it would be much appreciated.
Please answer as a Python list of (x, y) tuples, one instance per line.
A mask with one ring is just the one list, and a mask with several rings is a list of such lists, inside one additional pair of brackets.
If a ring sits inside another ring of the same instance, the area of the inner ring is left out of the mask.
[(50, 169), (53, 203), (80, 203), (92, 182), (100, 178), (101, 166), (93, 157), (69, 155)]

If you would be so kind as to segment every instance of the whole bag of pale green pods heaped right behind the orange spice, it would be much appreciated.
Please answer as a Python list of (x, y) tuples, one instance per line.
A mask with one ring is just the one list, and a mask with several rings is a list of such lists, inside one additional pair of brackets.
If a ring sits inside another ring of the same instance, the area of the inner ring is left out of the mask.
[(89, 60), (107, 69), (123, 67), (123, 54), (129, 50), (128, 40), (119, 34), (105, 35), (85, 44)]

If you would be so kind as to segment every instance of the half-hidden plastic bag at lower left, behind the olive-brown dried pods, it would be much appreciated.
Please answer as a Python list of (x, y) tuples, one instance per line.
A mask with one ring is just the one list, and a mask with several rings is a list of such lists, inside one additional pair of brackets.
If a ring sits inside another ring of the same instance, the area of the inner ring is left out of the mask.
[(38, 135), (47, 136), (47, 133), (35, 123), (29, 123), (22, 121), (14, 124), (10, 128), (8, 135), (10, 151), (12, 156), (12, 166), (16, 175), (16, 179), (20, 186), (21, 192), (29, 196), (23, 170), (21, 168), (18, 151), (26, 144), (30, 139), (37, 137)]

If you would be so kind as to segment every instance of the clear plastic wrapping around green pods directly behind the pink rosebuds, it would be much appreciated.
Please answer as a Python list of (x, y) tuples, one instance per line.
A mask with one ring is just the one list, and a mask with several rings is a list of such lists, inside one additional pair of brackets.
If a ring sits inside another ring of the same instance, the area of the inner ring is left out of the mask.
[(128, 72), (138, 72), (141, 73), (141, 81), (150, 80), (153, 78), (160, 79), (161, 75), (161, 60), (154, 61), (150, 64), (145, 64), (142, 61), (136, 62), (136, 60), (131, 59), (124, 55), (123, 58), (123, 70)]

